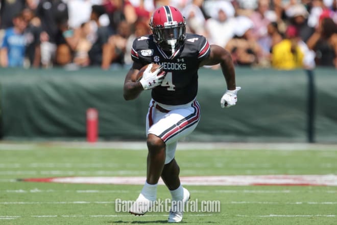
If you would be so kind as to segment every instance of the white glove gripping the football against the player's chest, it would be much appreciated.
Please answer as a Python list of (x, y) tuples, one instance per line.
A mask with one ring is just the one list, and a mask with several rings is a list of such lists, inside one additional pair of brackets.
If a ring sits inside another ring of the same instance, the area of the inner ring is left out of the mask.
[(145, 90), (152, 89), (155, 86), (160, 85), (165, 77), (165, 72), (162, 71), (162, 65), (159, 66), (154, 72), (151, 72), (152, 65), (152, 63), (148, 65), (143, 73), (142, 78), (139, 80)]

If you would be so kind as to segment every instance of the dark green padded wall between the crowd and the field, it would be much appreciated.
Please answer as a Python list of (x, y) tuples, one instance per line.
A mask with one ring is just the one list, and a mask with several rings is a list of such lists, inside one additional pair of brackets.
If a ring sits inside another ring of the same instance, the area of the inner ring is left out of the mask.
[[(101, 140), (144, 140), (151, 95), (125, 101), (126, 73), (0, 69), (2, 138), (84, 140), (86, 110), (93, 107)], [(306, 71), (236, 68), (238, 103), (222, 109), (221, 71), (200, 69), (201, 121), (186, 141), (336, 143), (337, 71), (314, 74), (310, 94)]]

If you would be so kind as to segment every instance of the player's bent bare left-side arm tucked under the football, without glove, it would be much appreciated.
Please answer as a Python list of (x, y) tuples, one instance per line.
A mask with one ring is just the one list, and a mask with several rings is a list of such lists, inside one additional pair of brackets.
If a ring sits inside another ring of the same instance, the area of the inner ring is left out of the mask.
[(128, 71), (123, 88), (123, 96), (125, 100), (133, 100), (138, 97), (143, 87), (141, 83), (136, 82), (137, 74), (141, 68), (141, 64), (134, 62), (131, 69)]

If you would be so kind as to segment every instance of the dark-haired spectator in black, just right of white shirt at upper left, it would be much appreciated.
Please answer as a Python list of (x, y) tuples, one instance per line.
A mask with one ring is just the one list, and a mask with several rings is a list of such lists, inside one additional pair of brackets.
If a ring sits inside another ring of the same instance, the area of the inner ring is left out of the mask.
[(90, 19), (97, 25), (95, 32), (95, 39), (88, 52), (90, 65), (101, 66), (102, 69), (107, 70), (110, 67), (110, 54), (108, 39), (110, 36), (110, 29), (107, 26), (101, 26), (100, 16), (105, 13), (105, 8), (100, 5), (93, 5)]

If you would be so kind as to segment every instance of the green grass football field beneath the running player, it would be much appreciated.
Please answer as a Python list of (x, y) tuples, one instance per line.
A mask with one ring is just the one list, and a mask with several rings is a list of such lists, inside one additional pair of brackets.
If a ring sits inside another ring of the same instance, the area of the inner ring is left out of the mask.
[[(32, 177), (145, 176), (146, 155), (146, 149), (118, 149), (113, 145), (0, 144), (0, 224), (166, 223), (167, 212), (141, 217), (115, 212), (115, 199), (136, 199), (141, 185), (17, 181)], [(181, 176), (337, 174), (337, 147), (198, 148), (178, 150), (176, 159)], [(191, 200), (219, 200), (221, 212), (188, 212), (182, 223), (337, 224), (337, 186), (185, 187)], [(157, 196), (165, 199), (170, 194), (160, 185)]]

